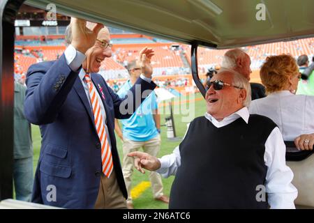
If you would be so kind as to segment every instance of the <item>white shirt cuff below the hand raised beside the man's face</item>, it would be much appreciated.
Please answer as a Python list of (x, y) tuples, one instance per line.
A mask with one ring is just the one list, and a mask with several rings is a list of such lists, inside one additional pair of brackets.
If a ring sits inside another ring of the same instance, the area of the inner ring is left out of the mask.
[(77, 71), (85, 59), (85, 54), (82, 54), (80, 51), (77, 51), (73, 45), (69, 45), (64, 52), (66, 56), (66, 63), (73, 71)]

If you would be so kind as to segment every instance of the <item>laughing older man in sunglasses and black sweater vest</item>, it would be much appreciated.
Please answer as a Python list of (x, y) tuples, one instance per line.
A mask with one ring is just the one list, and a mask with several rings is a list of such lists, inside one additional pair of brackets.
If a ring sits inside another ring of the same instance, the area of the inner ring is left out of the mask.
[(250, 102), (248, 80), (222, 70), (209, 84), (206, 114), (190, 123), (172, 154), (129, 154), (142, 173), (176, 176), (170, 208), (294, 208), (281, 132), (269, 118), (250, 115)]

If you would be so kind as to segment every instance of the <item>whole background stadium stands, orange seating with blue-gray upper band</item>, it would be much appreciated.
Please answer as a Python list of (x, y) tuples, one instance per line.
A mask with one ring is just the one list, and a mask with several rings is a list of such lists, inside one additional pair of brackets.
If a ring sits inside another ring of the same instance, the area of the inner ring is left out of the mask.
[[(190, 45), (176, 44), (179, 47), (172, 49), (171, 42), (167, 40), (160, 40), (130, 32), (121, 33), (118, 29), (112, 29), (112, 32), (112, 43), (114, 44), (112, 58), (105, 59), (105, 62), (103, 62), (100, 68), (100, 73), (106, 79), (128, 77), (125, 66), (128, 61), (138, 58), (140, 50), (146, 44), (155, 51), (155, 56), (151, 60), (154, 68), (154, 76), (182, 75), (190, 72), (190, 69), (184, 66), (185, 61), (188, 61), (190, 65)], [(22, 72), (26, 72), (32, 63), (38, 61), (36, 57), (41, 57), (47, 61), (55, 60), (58, 56), (61, 56), (65, 49), (62, 36), (48, 36), (45, 42), (41, 42), (36, 36), (30, 36), (29, 39), (27, 39), (27, 36), (17, 36), (15, 46), (20, 49), (20, 52), (23, 47), (27, 47), (30, 51), (32, 47), (36, 49), (36, 52), (31, 52), (28, 55), (20, 54), (19, 59), (16, 60)], [(292, 56), (297, 58), (301, 54), (307, 54), (311, 58), (314, 51), (314, 38), (242, 47), (242, 49), (251, 56), (252, 70), (258, 70), (269, 55), (292, 54)], [(38, 56), (38, 51), (43, 55)], [(199, 72), (207, 72), (208, 68), (221, 64), (225, 52), (226, 49), (216, 50), (199, 47), (197, 49)], [(182, 59), (181, 55), (184, 55), (185, 58)]]

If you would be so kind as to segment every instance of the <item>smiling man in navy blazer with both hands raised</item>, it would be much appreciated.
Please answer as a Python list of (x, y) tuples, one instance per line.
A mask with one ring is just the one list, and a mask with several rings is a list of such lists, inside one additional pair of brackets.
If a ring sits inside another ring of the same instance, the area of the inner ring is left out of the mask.
[[(126, 98), (119, 98), (97, 74), (100, 63), (112, 55), (108, 29), (102, 24), (88, 29), (86, 21), (72, 18), (66, 40), (70, 45), (57, 61), (37, 63), (27, 72), (24, 114), (31, 123), (40, 125), (42, 137), (32, 201), (62, 208), (126, 208), (128, 194), (114, 118), (129, 118), (156, 87), (151, 82), (154, 51), (142, 49), (142, 75)], [(109, 178), (102, 171), (86, 74), (97, 89), (111, 148), (113, 171)]]

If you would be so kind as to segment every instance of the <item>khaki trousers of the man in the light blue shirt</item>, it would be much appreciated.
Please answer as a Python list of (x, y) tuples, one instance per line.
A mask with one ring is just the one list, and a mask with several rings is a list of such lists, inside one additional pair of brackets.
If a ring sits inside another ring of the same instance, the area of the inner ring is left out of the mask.
[[(128, 153), (133, 151), (138, 151), (140, 148), (143, 149), (145, 153), (149, 155), (157, 156), (160, 150), (160, 135), (150, 139), (148, 141), (133, 141), (130, 139), (124, 139), (123, 150), (124, 150), (124, 160), (122, 163), (122, 171), (124, 173), (124, 181), (126, 183), (126, 190), (128, 191), (128, 202), (132, 201), (130, 196), (131, 190), (131, 178), (133, 174), (134, 158), (128, 157)], [(163, 195), (163, 183), (161, 177), (155, 171), (151, 171), (149, 174), (149, 180), (151, 181), (151, 189), (153, 190), (154, 198)]]

